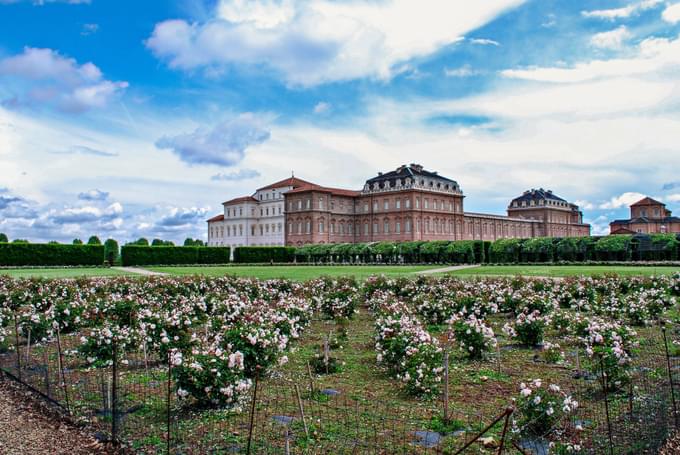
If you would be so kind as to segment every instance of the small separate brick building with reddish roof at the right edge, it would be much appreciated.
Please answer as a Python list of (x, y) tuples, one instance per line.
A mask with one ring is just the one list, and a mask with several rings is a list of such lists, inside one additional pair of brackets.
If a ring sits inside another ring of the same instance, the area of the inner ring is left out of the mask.
[(609, 224), (611, 234), (680, 233), (680, 218), (673, 216), (663, 202), (646, 197), (630, 206), (630, 218)]

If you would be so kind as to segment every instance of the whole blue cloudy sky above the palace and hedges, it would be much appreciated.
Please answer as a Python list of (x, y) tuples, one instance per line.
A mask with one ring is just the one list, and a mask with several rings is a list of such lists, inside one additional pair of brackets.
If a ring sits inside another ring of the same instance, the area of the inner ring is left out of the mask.
[(595, 233), (680, 212), (677, 0), (0, 0), (0, 232), (205, 237), (295, 174), (419, 162), (466, 209), (533, 187)]

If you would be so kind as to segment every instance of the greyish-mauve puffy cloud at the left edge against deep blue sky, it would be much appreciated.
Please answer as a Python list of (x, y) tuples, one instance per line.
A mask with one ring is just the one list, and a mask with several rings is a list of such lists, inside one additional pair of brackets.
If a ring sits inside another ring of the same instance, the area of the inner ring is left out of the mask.
[(19, 94), (5, 104), (53, 104), (73, 113), (102, 108), (128, 87), (104, 79), (92, 62), (78, 64), (52, 49), (33, 47), (0, 60), (0, 78), (19, 82)]

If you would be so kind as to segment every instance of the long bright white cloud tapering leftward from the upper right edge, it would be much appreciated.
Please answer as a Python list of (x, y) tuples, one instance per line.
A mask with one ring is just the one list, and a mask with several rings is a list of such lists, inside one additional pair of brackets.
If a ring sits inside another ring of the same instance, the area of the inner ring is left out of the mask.
[(502, 71), (506, 77), (543, 82), (582, 82), (598, 78), (639, 76), (680, 67), (680, 37), (648, 38), (629, 58), (593, 60), (570, 68), (534, 67)]

